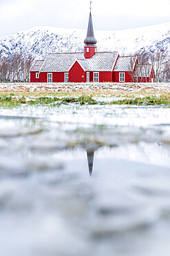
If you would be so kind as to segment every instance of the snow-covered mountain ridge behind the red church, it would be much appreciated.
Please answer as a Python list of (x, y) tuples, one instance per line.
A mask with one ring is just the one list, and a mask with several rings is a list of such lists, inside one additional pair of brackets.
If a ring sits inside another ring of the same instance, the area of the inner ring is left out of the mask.
[[(0, 51), (31, 53), (43, 59), (48, 52), (82, 52), (87, 30), (35, 27), (0, 39)], [(94, 30), (98, 51), (134, 53), (142, 48), (162, 47), (170, 51), (170, 22), (127, 30)]]

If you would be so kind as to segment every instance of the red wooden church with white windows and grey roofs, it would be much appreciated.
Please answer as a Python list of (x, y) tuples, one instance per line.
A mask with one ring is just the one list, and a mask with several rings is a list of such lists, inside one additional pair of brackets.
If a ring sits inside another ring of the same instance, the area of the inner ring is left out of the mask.
[(136, 56), (118, 52), (97, 52), (96, 38), (89, 13), (84, 53), (48, 53), (45, 60), (35, 60), (30, 82), (153, 82), (150, 64), (138, 64)]

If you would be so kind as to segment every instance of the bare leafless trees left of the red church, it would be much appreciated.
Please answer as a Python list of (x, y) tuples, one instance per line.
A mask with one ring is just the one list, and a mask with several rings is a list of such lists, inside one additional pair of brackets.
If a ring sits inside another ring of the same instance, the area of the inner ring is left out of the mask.
[(30, 54), (4, 56), (0, 51), (0, 82), (28, 82), (33, 61)]

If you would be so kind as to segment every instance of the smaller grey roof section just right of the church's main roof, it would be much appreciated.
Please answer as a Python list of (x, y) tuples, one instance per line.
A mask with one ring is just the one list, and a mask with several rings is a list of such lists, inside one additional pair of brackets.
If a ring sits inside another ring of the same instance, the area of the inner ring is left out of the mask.
[(136, 62), (136, 56), (123, 56), (118, 57), (114, 71), (133, 71)]

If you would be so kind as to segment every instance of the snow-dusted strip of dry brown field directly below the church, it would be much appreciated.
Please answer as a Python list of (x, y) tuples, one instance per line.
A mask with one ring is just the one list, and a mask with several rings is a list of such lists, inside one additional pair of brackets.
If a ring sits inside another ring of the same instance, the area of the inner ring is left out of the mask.
[(58, 91), (170, 91), (170, 83), (1, 83), (0, 92), (58, 92)]

